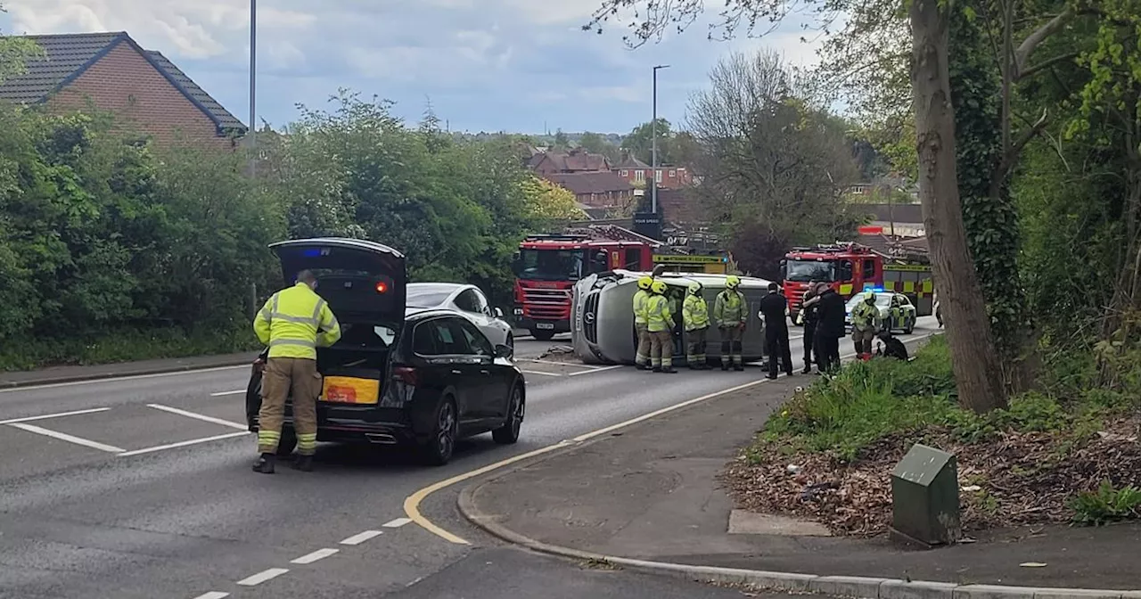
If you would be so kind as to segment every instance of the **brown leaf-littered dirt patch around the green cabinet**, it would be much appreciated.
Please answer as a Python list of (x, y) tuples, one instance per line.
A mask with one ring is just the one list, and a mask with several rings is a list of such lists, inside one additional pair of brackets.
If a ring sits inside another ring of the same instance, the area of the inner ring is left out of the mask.
[(759, 442), (720, 478), (741, 509), (810, 518), (835, 535), (876, 536), (891, 520), (892, 468), (914, 443), (924, 443), (958, 459), (964, 531), (1058, 524), (1073, 518), (1067, 503), (1075, 493), (1102, 480), (1141, 487), (1139, 437), (1136, 414), (1078, 440), (1068, 432), (1009, 432), (966, 444), (931, 429), (883, 439), (847, 464)]

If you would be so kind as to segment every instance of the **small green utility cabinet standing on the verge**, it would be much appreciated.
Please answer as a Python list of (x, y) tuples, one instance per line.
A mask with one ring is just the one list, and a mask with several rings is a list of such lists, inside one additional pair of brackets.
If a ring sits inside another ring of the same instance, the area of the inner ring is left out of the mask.
[(946, 545), (962, 537), (955, 456), (916, 443), (891, 472), (892, 525), (897, 541)]

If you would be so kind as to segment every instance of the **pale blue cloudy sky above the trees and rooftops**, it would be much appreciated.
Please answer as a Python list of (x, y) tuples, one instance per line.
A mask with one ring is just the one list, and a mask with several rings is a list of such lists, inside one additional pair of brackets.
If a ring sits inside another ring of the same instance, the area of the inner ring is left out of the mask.
[[(629, 49), (624, 26), (582, 31), (599, 0), (259, 0), (258, 122), (326, 105), (338, 89), (396, 103), (418, 121), (429, 102), (459, 131), (625, 133), (653, 114), (685, 122), (718, 59), (767, 47), (816, 62), (799, 22), (760, 39), (710, 41), (707, 24)], [(250, 0), (0, 0), (8, 34), (126, 31), (159, 50), (249, 122)], [(720, 2), (710, 2), (718, 6)], [(814, 35), (809, 33), (809, 37)]]

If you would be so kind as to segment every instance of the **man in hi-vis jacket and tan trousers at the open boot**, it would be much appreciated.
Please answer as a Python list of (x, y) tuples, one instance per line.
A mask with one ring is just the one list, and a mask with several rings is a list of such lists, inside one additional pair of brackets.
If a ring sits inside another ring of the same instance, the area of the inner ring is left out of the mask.
[(341, 327), (325, 300), (316, 293), (317, 277), (301, 270), (297, 283), (274, 293), (253, 318), (253, 332), (269, 347), (261, 380), (261, 411), (258, 414), (258, 452), (253, 471), (274, 473), (274, 458), (282, 438), (285, 399), (293, 397), (293, 428), (297, 431), (296, 467), (313, 469), (317, 448), (317, 347), (341, 338)]

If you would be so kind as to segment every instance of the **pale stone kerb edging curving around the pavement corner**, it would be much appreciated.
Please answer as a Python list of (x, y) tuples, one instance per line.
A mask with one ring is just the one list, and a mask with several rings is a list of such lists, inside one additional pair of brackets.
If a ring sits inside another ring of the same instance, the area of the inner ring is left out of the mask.
[[(683, 411), (683, 410), (682, 410)], [(650, 421), (641, 422), (645, 424)], [(675, 576), (699, 582), (748, 584), (772, 591), (828, 594), (858, 599), (1141, 599), (1141, 590), (1119, 591), (1101, 589), (1065, 589), (1036, 586), (1006, 586), (993, 584), (957, 584), (937, 581), (904, 581), (898, 578), (861, 576), (825, 576), (792, 572), (766, 572), (717, 566), (694, 566), (672, 561), (607, 556), (561, 545), (553, 545), (531, 539), (503, 526), (499, 517), (484, 513), (475, 501), (476, 494), (485, 485), (513, 472), (542, 463), (558, 455), (576, 452), (599, 443), (607, 437), (568, 445), (564, 448), (523, 460), (509, 468), (483, 477), (460, 491), (456, 505), (460, 513), (477, 528), (508, 543), (532, 551), (584, 561), (606, 562), (626, 568)]]

